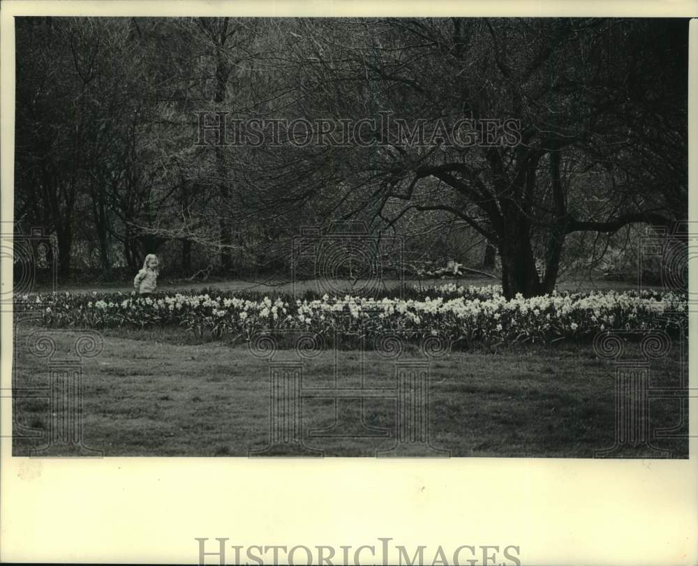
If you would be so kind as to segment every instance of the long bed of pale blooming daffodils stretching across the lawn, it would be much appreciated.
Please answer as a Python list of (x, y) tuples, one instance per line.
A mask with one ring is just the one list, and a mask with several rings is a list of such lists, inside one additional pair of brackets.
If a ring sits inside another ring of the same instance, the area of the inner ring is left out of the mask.
[(417, 298), (54, 293), (15, 297), (15, 305), (36, 313), (47, 327), (176, 325), (195, 334), (244, 339), (260, 332), (299, 329), (327, 338), (338, 332), (364, 336), (396, 332), (415, 339), (438, 334), (464, 343), (514, 343), (581, 338), (604, 329), (688, 327), (687, 297), (672, 292), (563, 292), (507, 300), (496, 286), (450, 284), (412, 290), (411, 295)]

